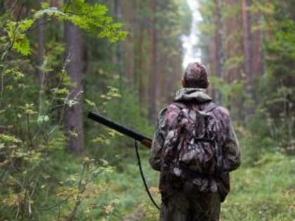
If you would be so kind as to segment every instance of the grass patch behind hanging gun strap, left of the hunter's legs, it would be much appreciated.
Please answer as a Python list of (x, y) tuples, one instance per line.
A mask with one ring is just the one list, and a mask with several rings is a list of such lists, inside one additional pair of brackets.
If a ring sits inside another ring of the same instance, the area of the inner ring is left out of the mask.
[[(147, 154), (144, 150), (140, 152), (143, 156), (143, 169), (152, 195), (159, 203), (159, 191), (157, 189), (157, 172), (152, 171), (147, 164)], [(143, 182), (138, 174), (138, 166), (128, 159), (121, 159), (121, 170), (101, 176), (96, 182), (101, 185), (107, 184), (108, 191), (100, 194), (100, 204), (89, 215), (90, 220), (156, 220), (158, 210), (152, 205), (148, 198)], [(103, 203), (110, 202), (110, 203)]]

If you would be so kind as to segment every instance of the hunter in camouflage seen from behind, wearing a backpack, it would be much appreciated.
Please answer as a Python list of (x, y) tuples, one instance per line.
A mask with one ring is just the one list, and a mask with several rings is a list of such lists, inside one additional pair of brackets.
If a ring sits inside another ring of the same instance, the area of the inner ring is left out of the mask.
[(239, 143), (228, 109), (206, 93), (204, 65), (190, 63), (182, 85), (159, 112), (150, 150), (150, 164), (160, 171), (160, 220), (217, 221), (229, 173), (240, 166)]

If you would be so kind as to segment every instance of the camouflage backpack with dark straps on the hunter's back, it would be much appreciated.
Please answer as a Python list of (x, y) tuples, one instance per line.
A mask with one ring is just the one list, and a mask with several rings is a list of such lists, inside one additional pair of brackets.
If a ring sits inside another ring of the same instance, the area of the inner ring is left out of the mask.
[[(222, 151), (216, 142), (218, 121), (210, 114), (211, 102), (201, 111), (198, 105), (174, 102), (178, 115), (168, 126), (162, 152), (162, 171), (171, 183), (176, 180), (214, 178), (222, 168)], [(196, 181), (196, 185), (202, 183)], [(203, 189), (204, 190), (204, 189)]]

